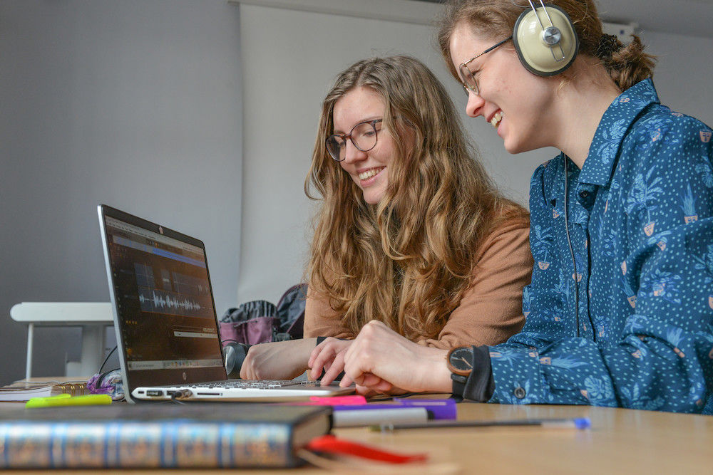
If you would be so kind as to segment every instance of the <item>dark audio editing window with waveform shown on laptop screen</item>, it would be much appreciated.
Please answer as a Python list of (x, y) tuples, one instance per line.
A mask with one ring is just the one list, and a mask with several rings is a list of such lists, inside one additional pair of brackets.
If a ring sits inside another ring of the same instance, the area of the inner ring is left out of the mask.
[(128, 370), (221, 366), (203, 249), (109, 217), (106, 229)]

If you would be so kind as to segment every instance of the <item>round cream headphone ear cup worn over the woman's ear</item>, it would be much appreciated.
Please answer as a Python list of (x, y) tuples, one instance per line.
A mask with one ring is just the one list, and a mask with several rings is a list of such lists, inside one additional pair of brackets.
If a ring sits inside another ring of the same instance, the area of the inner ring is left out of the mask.
[[(570, 17), (557, 6), (545, 6), (545, 10), (547, 14), (541, 6), (536, 10), (523, 11), (513, 29), (513, 43), (520, 62), (530, 73), (539, 76), (565, 71), (575, 61), (579, 51), (579, 38)], [(543, 25), (548, 28), (550, 19), (561, 35), (559, 43), (552, 47), (543, 38)]]

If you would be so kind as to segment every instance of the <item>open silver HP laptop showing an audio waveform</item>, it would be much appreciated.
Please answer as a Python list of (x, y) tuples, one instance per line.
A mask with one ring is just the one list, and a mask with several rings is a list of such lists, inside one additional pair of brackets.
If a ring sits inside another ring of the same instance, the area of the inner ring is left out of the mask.
[(202, 241), (100, 204), (125, 397), (282, 401), (354, 392), (308, 381), (228, 380)]

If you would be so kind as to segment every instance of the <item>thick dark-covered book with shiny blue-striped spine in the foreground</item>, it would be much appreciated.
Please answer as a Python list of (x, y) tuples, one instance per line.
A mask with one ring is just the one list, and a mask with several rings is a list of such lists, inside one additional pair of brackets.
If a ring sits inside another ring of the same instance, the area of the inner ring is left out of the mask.
[(0, 468), (291, 467), (332, 410), (275, 404), (0, 409)]

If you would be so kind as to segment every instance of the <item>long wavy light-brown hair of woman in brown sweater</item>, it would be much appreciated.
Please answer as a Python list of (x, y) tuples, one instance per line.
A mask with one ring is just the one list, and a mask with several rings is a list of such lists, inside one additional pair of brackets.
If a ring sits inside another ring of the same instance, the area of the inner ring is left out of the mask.
[[(396, 148), (376, 205), (364, 202), (325, 146), (334, 103), (359, 87), (384, 100), (382, 130)], [(483, 237), (526, 214), (496, 190), (443, 85), (408, 56), (359, 61), (338, 75), (322, 105), (304, 190), (321, 201), (309, 286), (355, 335), (380, 320), (412, 340), (434, 338), (469, 286)]]

